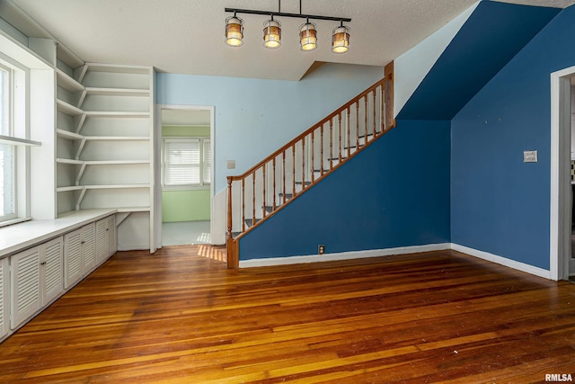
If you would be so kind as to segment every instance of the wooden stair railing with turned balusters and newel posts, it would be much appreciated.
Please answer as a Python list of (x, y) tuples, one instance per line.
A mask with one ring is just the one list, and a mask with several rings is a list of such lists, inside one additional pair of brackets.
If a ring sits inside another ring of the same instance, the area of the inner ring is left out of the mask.
[(394, 128), (394, 62), (385, 77), (248, 171), (227, 176), (227, 267), (239, 239)]

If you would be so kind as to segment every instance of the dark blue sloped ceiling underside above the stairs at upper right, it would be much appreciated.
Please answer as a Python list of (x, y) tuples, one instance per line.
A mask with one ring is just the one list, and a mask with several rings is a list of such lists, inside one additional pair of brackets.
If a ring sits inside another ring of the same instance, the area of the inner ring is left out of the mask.
[(482, 1), (398, 114), (451, 120), (561, 9)]

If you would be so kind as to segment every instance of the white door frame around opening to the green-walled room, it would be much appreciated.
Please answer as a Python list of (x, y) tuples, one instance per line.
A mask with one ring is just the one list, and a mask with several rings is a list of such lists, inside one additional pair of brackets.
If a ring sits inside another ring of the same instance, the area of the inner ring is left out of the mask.
[(215, 135), (215, 108), (210, 105), (183, 105), (183, 104), (156, 104), (155, 105), (155, 132), (154, 132), (154, 201), (155, 201), (155, 242), (156, 248), (162, 247), (162, 111), (164, 110), (187, 110), (209, 111), (209, 142), (211, 149), (212, 172), (209, 181), (209, 233), (210, 238), (214, 234), (214, 180), (216, 167), (214, 166), (216, 135)]

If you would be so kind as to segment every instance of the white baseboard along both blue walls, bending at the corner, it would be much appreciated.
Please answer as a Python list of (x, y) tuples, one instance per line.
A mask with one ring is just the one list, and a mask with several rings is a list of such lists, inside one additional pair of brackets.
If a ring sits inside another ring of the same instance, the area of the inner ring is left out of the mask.
[(363, 259), (367, 257), (381, 257), (390, 255), (405, 255), (420, 252), (443, 251), (443, 250), (454, 250), (466, 255), (477, 257), (478, 259), (486, 260), (491, 263), (498, 263), (500, 265), (506, 266), (508, 268), (517, 271), (526, 272), (529, 274), (533, 274), (535, 276), (543, 277), (544, 279), (553, 280), (551, 272), (544, 270), (542, 268), (535, 267), (533, 265), (529, 265), (526, 263), (520, 263), (515, 260), (511, 260), (499, 255), (493, 255), (488, 252), (470, 248), (468, 246), (460, 246), (458, 244), (453, 243), (429, 244), (426, 246), (401, 246), (397, 248), (372, 249), (368, 251), (341, 252), (338, 254), (302, 255), (302, 256), (252, 259), (252, 260), (240, 261), (240, 268), (253, 268), (261, 266), (271, 266), (271, 265), (288, 265), (298, 263), (331, 262), (338, 260)]

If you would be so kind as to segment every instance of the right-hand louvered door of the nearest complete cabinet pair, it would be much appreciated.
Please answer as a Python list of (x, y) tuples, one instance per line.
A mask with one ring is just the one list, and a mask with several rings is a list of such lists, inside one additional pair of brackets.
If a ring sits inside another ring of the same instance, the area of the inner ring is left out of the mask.
[(42, 278), (41, 292), (44, 306), (52, 299), (57, 298), (64, 290), (62, 279), (62, 255), (64, 251), (64, 241), (62, 237), (57, 237), (40, 246), (42, 251), (40, 261), (40, 278)]

